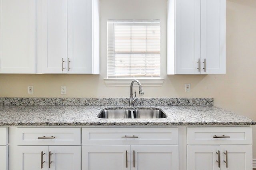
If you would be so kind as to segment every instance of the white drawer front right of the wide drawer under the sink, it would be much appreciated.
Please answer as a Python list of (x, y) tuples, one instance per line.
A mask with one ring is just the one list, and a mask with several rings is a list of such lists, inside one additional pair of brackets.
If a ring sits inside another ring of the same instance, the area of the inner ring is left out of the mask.
[(251, 127), (188, 127), (188, 145), (252, 145)]

